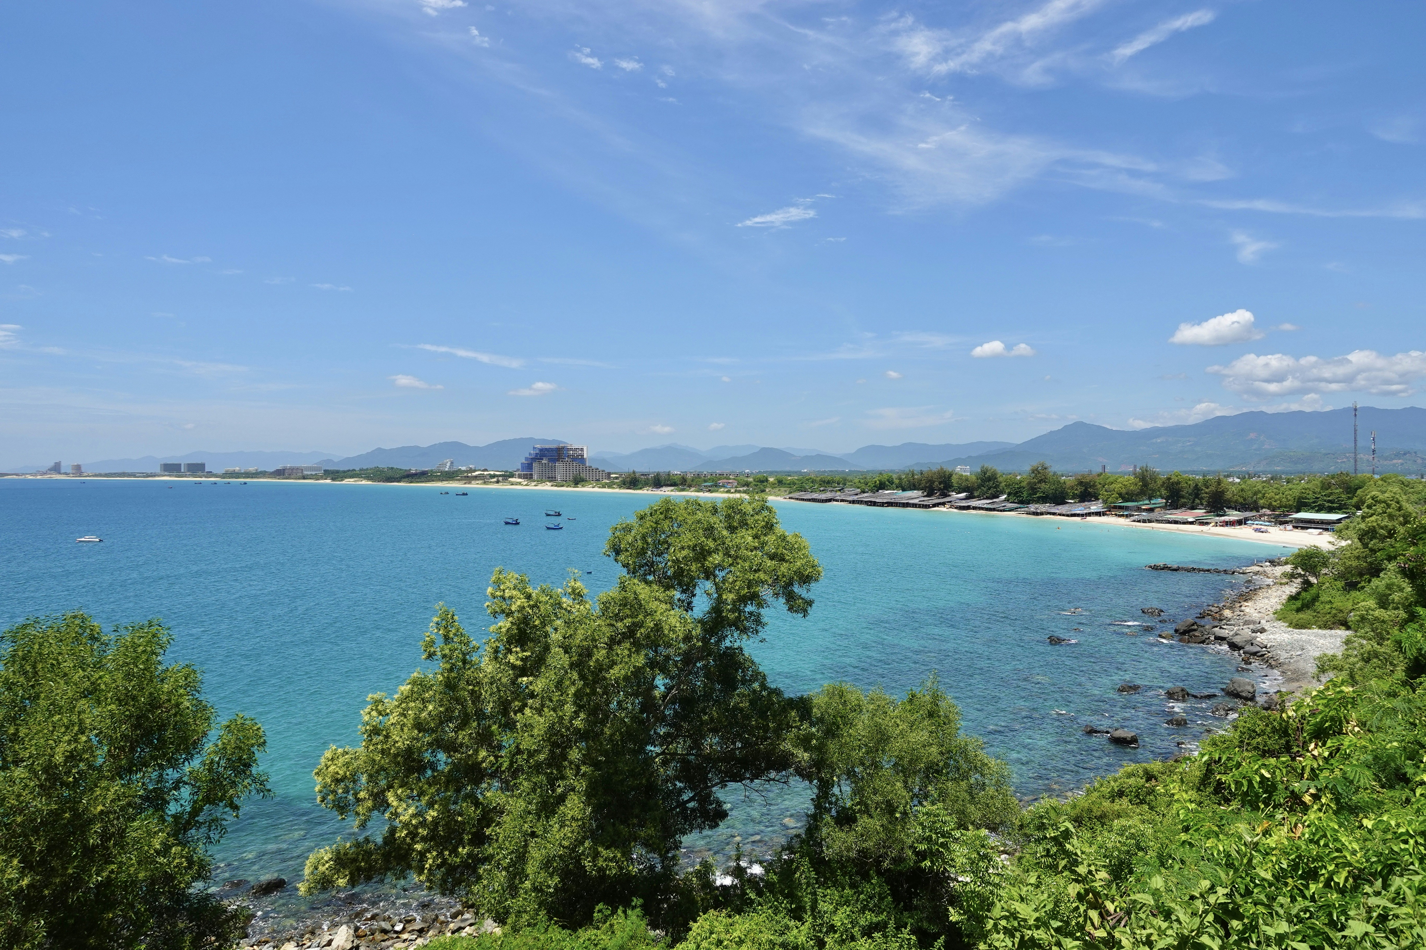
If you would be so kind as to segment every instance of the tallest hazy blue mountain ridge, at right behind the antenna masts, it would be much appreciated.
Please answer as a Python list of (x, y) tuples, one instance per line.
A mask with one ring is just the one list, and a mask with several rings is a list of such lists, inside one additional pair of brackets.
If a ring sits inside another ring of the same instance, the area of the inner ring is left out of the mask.
[[(1378, 457), (1389, 453), (1426, 451), (1426, 409), (1376, 409), (1363, 406), (1359, 416), (1359, 453), (1369, 464), (1369, 433), (1376, 430)], [(1293, 454), (1298, 453), (1298, 454)], [(1024, 471), (1048, 461), (1060, 471), (1127, 471), (1154, 466), (1162, 471), (1322, 471), (1336, 459), (1335, 471), (1352, 467), (1352, 410), (1249, 412), (1218, 416), (1186, 426), (1139, 430), (1107, 429), (1085, 422), (1070, 423), (1027, 442), (978, 456), (947, 459), (940, 464), (995, 466)], [(1410, 469), (1402, 456), (1405, 471)], [(923, 466), (918, 466), (923, 467)], [(1380, 464), (1378, 466), (1380, 470)]]

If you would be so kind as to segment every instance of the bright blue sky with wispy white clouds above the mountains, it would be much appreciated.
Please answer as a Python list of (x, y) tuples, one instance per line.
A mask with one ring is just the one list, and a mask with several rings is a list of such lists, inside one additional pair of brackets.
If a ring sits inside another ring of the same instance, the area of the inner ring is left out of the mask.
[(0, 7), (0, 464), (1422, 404), (1426, 7)]

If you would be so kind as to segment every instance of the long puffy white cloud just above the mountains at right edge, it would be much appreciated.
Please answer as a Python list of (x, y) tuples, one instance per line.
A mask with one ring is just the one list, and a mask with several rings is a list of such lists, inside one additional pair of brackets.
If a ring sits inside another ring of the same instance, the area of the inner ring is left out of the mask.
[(1255, 399), (1342, 392), (1409, 396), (1416, 392), (1413, 382), (1426, 376), (1426, 353), (1410, 350), (1383, 356), (1359, 349), (1332, 359), (1248, 353), (1226, 366), (1209, 366), (1208, 372), (1222, 376), (1226, 389)]

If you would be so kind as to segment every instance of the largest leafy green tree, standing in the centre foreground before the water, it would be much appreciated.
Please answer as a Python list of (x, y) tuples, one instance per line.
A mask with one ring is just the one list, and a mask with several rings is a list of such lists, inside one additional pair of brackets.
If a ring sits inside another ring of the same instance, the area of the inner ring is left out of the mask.
[(506, 922), (588, 920), (673, 900), (679, 842), (727, 816), (720, 789), (790, 775), (800, 701), (744, 644), (821, 577), (771, 507), (663, 500), (610, 533), (625, 574), (590, 600), (498, 570), (491, 637), (441, 607), (438, 662), (374, 695), (318, 800), (376, 836), (315, 852), (304, 890), (414, 873)]

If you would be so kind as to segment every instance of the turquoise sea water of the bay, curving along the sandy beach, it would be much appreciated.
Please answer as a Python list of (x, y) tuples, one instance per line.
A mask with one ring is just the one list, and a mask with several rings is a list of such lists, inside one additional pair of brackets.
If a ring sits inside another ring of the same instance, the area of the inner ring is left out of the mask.
[[(421, 662), (438, 601), (483, 628), (496, 565), (559, 584), (568, 568), (607, 588), (609, 526), (649, 494), (359, 484), (0, 480), (0, 625), (83, 608), (106, 625), (161, 617), (171, 659), (205, 672), (220, 714), (255, 716), (275, 799), (254, 802), (220, 846), (218, 876), (299, 879), (305, 856), (341, 828), (314, 802), (312, 768), (356, 738), (371, 692), (392, 692)], [(546, 507), (566, 527), (546, 531)], [(1161, 691), (1221, 688), (1235, 661), (1111, 625), (1141, 607), (1192, 615), (1232, 578), (1145, 571), (1154, 561), (1231, 567), (1275, 557), (1251, 541), (1117, 524), (994, 514), (779, 503), (821, 561), (816, 607), (773, 617), (753, 652), (789, 692), (846, 679), (897, 694), (938, 671), (965, 731), (1011, 763), (1021, 795), (1055, 793), (1125, 762), (1166, 758), (1198, 729), (1162, 725)], [(519, 516), (519, 527), (502, 523)], [(103, 544), (76, 544), (97, 534)], [(1062, 611), (1084, 608), (1084, 614)], [(1152, 622), (1152, 621), (1148, 621)], [(1074, 632), (1074, 628), (1081, 628)], [(1051, 647), (1045, 637), (1078, 640)], [(1121, 682), (1142, 684), (1135, 695)], [(1202, 704), (1211, 705), (1211, 704)], [(1062, 712), (1057, 712), (1062, 711)], [(1189, 709), (1191, 719), (1195, 711)], [(1204, 711), (1196, 718), (1204, 719)], [(1128, 726), (1141, 748), (1082, 726)], [(690, 849), (754, 850), (796, 825), (800, 795), (730, 796), (733, 815)]]

